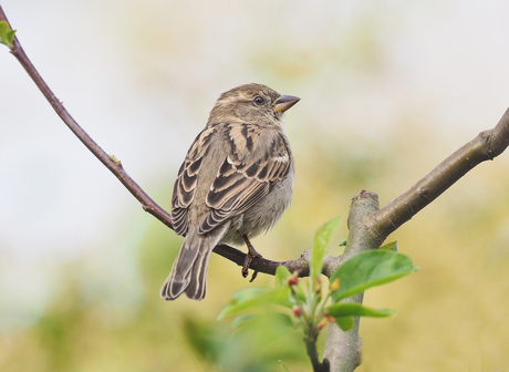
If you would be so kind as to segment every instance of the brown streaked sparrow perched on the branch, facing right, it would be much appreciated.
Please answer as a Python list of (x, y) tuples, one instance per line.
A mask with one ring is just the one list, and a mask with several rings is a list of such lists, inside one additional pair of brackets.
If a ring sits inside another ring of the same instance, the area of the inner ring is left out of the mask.
[(261, 257), (250, 239), (272, 228), (292, 199), (295, 167), (282, 116), (299, 101), (254, 83), (219, 96), (174, 184), (172, 219), (185, 239), (163, 299), (204, 299), (218, 244), (246, 244), (247, 257)]

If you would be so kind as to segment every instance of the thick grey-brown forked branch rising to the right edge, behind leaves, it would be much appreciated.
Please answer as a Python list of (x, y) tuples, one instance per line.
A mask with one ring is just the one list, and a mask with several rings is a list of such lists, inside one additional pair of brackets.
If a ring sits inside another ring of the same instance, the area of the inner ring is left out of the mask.
[[(481, 132), (384, 208), (377, 210), (376, 194), (361, 192), (353, 198), (350, 209), (350, 235), (344, 259), (363, 250), (377, 249), (391, 232), (436, 199), (476, 165), (500, 155), (508, 145), (509, 108), (492, 130)], [(337, 262), (337, 267), (339, 265), (341, 262)], [(331, 269), (334, 271), (336, 267)], [(362, 294), (349, 299), (357, 303), (362, 303)], [(350, 332), (341, 331), (333, 323), (329, 326), (324, 358), (330, 360), (332, 371), (355, 370), (361, 362), (359, 319), (355, 319), (355, 326)]]

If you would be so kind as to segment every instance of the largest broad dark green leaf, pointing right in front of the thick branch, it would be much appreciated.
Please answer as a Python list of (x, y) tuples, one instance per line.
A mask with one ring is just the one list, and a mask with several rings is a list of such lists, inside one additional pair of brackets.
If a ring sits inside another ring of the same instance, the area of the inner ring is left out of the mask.
[(389, 250), (370, 250), (353, 256), (332, 275), (340, 278), (340, 289), (332, 293), (334, 302), (382, 286), (417, 270), (412, 260)]

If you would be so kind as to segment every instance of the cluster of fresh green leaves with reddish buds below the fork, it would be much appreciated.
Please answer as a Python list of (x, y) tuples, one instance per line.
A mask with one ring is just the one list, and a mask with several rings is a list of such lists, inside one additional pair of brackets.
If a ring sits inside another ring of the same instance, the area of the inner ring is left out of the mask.
[[(326, 291), (323, 290), (321, 271), (325, 250), (337, 229), (339, 218), (325, 223), (316, 232), (311, 255), (310, 278), (300, 279), (284, 266), (276, 271), (276, 286), (268, 288), (248, 288), (233, 294), (233, 299), (219, 312), (218, 318), (236, 314), (254, 307), (277, 304), (291, 309), (302, 328), (304, 340), (315, 342), (320, 331), (329, 323), (335, 322), (343, 331), (354, 326), (354, 317), (388, 317), (392, 309), (373, 309), (349, 301), (352, 296), (368, 288), (382, 286), (409, 275), (417, 268), (412, 260), (397, 252), (397, 242), (391, 242), (378, 250), (364, 251), (345, 260), (331, 276)], [(240, 317), (235, 326), (242, 324)]]

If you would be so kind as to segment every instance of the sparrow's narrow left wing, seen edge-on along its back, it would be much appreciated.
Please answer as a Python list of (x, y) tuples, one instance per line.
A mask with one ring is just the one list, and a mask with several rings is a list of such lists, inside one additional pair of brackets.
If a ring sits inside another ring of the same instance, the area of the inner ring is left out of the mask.
[(172, 220), (177, 235), (185, 235), (188, 230), (187, 208), (195, 197), (202, 159), (215, 133), (215, 127), (206, 127), (196, 136), (178, 170), (172, 195)]

